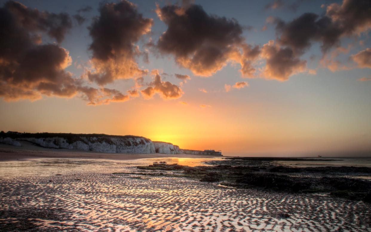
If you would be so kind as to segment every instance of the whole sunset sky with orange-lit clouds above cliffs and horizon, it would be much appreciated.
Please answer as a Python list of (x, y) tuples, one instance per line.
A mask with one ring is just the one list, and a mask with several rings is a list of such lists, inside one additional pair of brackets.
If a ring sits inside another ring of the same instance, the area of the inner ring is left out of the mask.
[(0, 130), (371, 155), (371, 2), (2, 1)]

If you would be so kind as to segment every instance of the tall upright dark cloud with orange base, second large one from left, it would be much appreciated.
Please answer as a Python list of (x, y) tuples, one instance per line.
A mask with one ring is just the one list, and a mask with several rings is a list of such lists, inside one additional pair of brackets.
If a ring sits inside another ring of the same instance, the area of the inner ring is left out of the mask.
[(105, 85), (116, 79), (146, 74), (147, 70), (140, 69), (135, 61), (140, 51), (134, 44), (149, 33), (151, 27), (152, 19), (144, 18), (129, 1), (102, 4), (99, 16), (89, 27), (94, 69), (86, 73), (89, 80)]

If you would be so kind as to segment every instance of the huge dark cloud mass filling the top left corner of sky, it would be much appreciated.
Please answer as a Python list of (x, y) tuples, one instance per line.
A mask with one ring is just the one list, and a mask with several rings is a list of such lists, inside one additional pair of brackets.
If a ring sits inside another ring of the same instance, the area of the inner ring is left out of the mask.
[(41, 44), (41, 34), (61, 42), (71, 27), (67, 14), (29, 9), (8, 1), (0, 8), (0, 96), (4, 100), (71, 97), (76, 81), (65, 71), (72, 59), (57, 44)]

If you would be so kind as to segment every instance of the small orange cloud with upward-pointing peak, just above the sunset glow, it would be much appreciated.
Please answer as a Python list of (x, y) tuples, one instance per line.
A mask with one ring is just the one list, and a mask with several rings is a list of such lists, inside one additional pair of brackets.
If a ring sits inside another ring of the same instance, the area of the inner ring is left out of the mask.
[(158, 93), (162, 99), (177, 99), (183, 95), (183, 91), (179, 86), (162, 81), (158, 70), (153, 70), (152, 74), (154, 75), (154, 81), (141, 91), (146, 99), (151, 99), (155, 93)]

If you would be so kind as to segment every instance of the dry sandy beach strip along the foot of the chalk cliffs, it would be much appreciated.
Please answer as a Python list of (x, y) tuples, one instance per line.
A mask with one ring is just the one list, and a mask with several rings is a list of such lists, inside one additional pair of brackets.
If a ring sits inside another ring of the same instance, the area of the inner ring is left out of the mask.
[(145, 158), (213, 158), (216, 156), (190, 154), (162, 154), (162, 153), (104, 153), (89, 152), (72, 149), (53, 149), (36, 146), (30, 142), (21, 142), (22, 147), (0, 144), (0, 162), (27, 160), (35, 158), (66, 158), (66, 159), (111, 159), (134, 160)]

